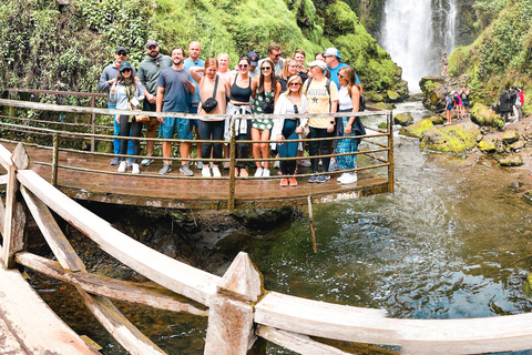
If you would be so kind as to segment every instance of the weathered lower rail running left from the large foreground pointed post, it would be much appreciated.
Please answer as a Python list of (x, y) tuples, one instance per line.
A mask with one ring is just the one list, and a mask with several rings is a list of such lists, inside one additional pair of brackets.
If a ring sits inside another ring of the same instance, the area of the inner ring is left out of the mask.
[(31, 253), (17, 253), (16, 260), (29, 268), (48, 276), (81, 286), (84, 291), (114, 300), (143, 304), (158, 310), (186, 312), (207, 316), (208, 311), (200, 305), (186, 303), (181, 295), (157, 284), (139, 284), (86, 272), (66, 272), (58, 262)]

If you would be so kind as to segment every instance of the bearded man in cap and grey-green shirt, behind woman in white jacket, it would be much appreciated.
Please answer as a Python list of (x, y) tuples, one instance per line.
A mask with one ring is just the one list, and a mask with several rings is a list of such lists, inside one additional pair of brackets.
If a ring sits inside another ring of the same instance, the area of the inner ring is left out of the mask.
[[(168, 55), (160, 53), (160, 47), (156, 41), (150, 40), (146, 43), (147, 58), (144, 59), (139, 65), (139, 79), (141, 79), (144, 87), (144, 111), (155, 112), (156, 94), (157, 94), (157, 80), (161, 71), (172, 65), (172, 59)], [(158, 121), (156, 118), (150, 118), (146, 126), (146, 136), (155, 138), (157, 131)], [(147, 141), (146, 151), (147, 158), (141, 162), (141, 165), (147, 166), (153, 163), (153, 141)]]

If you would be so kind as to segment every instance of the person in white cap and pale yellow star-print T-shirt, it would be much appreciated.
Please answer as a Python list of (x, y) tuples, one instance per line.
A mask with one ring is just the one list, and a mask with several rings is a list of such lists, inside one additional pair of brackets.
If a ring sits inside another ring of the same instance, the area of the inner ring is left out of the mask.
[[(308, 64), (313, 78), (309, 78), (303, 88), (303, 93), (307, 95), (308, 112), (309, 113), (336, 113), (338, 104), (338, 89), (330, 79), (325, 77), (327, 64), (324, 61), (315, 60)], [(308, 119), (308, 126), (310, 133), (309, 139), (324, 139), (331, 136), (335, 130), (334, 118), (311, 118)], [(328, 140), (310, 141), (309, 144), (310, 156), (329, 155), (330, 148)], [(330, 156), (321, 158), (323, 172), (329, 171)], [(317, 175), (318, 159), (310, 159), (310, 164), (314, 175), (308, 179), (308, 182), (327, 182), (330, 176), (328, 174)]]

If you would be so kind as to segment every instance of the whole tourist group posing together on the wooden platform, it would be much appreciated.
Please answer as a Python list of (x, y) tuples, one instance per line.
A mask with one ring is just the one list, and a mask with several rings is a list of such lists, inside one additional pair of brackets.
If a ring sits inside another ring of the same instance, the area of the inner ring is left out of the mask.
[[(321, 158), (325, 174), (318, 174), (318, 155), (329, 155), (331, 150), (337, 154), (357, 152), (359, 138), (330, 140), (330, 136), (364, 135), (366, 131), (358, 116), (296, 119), (290, 114), (299, 113), (336, 113), (358, 112), (362, 88), (355, 70), (341, 62), (342, 57), (335, 48), (315, 55), (315, 60), (306, 63), (306, 53), (296, 50), (290, 58), (283, 58), (280, 47), (268, 45), (268, 55), (258, 59), (256, 52), (241, 58), (234, 70), (229, 69), (229, 55), (221, 53), (217, 58), (200, 59), (201, 44), (193, 41), (188, 45), (188, 55), (182, 48), (174, 48), (171, 57), (162, 54), (156, 41), (146, 43), (147, 57), (139, 69), (127, 62), (127, 50), (119, 47), (113, 64), (108, 65), (100, 78), (99, 90), (109, 91), (109, 109), (143, 110), (152, 112), (197, 113), (198, 120), (182, 118), (142, 118), (135, 115), (116, 115), (114, 125), (114, 153), (121, 154), (111, 161), (119, 165), (117, 171), (124, 173), (132, 166), (132, 173), (139, 174), (141, 166), (154, 162), (154, 142), (146, 142), (146, 158), (141, 163), (136, 159), (125, 159), (126, 154), (140, 155), (140, 138), (142, 128), (146, 125), (146, 136), (158, 134), (164, 139), (173, 139), (175, 132), (181, 140), (193, 140), (193, 132), (198, 140), (228, 141), (232, 128), (223, 114), (257, 114), (250, 120), (236, 120), (237, 159), (235, 174), (248, 176), (246, 163), (249, 158), (249, 144), (239, 143), (253, 139), (253, 158), (256, 160), (255, 176), (269, 176), (272, 150), (279, 158), (303, 156), (300, 142), (290, 142), (306, 135), (310, 141), (308, 151), (313, 175), (308, 182), (327, 182), (332, 170), (345, 170), (338, 181), (349, 184), (357, 181), (357, 155), (339, 155), (336, 162), (329, 156)], [(329, 79), (330, 78), (330, 79)], [(272, 118), (267, 115), (272, 114)], [(265, 116), (266, 115), (266, 116)], [(279, 115), (279, 118), (276, 118)], [(274, 119), (275, 118), (275, 119)], [(319, 140), (323, 139), (323, 140)], [(269, 144), (268, 140), (280, 141)], [(264, 143), (262, 142), (264, 141)], [(202, 159), (222, 160), (228, 158), (228, 145), (224, 143), (197, 144)], [(272, 148), (272, 150), (270, 150)], [(200, 153), (201, 152), (201, 153)], [(172, 142), (162, 144), (163, 158), (170, 159)], [(192, 143), (182, 142), (180, 172), (192, 176), (190, 161)], [(296, 186), (297, 164), (305, 161), (282, 160), (282, 186)], [(306, 163), (308, 164), (308, 162)], [(335, 166), (337, 165), (337, 166)], [(221, 176), (219, 165), (197, 163), (203, 176)], [(228, 168), (224, 165), (224, 168)], [(163, 161), (158, 174), (166, 175), (172, 171), (170, 160)]]

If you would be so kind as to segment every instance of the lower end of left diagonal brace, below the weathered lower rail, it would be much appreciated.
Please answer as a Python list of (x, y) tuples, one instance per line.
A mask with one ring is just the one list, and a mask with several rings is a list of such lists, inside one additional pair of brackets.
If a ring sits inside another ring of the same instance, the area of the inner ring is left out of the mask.
[(132, 355), (166, 355), (157, 345), (142, 334), (105, 297), (93, 296), (75, 286), (86, 307), (105, 329)]

